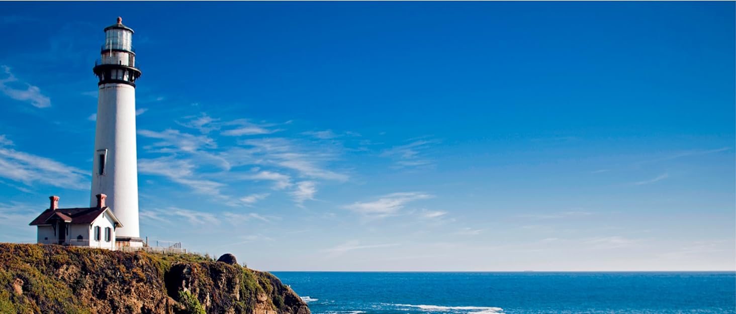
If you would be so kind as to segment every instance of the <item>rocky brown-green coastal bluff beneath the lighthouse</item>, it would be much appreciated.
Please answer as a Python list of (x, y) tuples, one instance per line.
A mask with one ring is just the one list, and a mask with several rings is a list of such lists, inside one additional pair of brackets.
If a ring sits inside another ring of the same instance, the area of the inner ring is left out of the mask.
[(269, 273), (195, 254), (0, 243), (0, 314), (310, 314)]

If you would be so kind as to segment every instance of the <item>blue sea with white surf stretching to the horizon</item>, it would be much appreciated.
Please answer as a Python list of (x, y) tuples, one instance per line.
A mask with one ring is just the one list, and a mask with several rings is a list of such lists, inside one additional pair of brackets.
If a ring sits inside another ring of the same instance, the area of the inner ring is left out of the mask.
[(729, 314), (735, 272), (273, 272), (315, 314)]

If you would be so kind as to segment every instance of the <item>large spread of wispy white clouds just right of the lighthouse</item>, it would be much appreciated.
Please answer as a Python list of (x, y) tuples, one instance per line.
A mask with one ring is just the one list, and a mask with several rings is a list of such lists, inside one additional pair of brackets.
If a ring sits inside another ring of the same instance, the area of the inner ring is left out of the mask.
[[(146, 152), (166, 154), (140, 160), (141, 174), (164, 176), (172, 182), (188, 185), (197, 193), (212, 193), (214, 197), (222, 197), (223, 190), (230, 188), (233, 182), (267, 181), (272, 182), (272, 190), (286, 190), (300, 205), (314, 199), (321, 180), (344, 182), (349, 179), (347, 174), (328, 168), (330, 163), (339, 160), (343, 151), (335, 141), (320, 143), (302, 137), (259, 137), (281, 131), (273, 127), (288, 123), (257, 124), (248, 119), (222, 121), (206, 113), (187, 116), (176, 123), (199, 132), (171, 128), (138, 131), (141, 138), (154, 140), (143, 146)], [(236, 140), (233, 146), (215, 134), (253, 137)], [(219, 145), (220, 140), (225, 146)], [(215, 165), (216, 169), (207, 165)], [(241, 171), (243, 167), (250, 167), (250, 171)], [(239, 204), (247, 205), (258, 199), (243, 196), (238, 200)]]

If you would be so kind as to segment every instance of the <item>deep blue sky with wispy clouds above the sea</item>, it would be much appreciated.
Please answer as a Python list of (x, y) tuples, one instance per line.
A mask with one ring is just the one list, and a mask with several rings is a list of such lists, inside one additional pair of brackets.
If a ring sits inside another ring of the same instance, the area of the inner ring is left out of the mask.
[(0, 240), (88, 205), (135, 29), (141, 235), (265, 270), (732, 270), (733, 2), (0, 3)]

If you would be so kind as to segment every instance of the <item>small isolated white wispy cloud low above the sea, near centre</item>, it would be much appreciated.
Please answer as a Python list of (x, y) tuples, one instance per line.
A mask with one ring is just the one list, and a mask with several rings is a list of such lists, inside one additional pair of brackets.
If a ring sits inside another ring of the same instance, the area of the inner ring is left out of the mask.
[(385, 218), (397, 215), (411, 201), (432, 197), (434, 196), (421, 192), (391, 193), (381, 196), (375, 201), (356, 201), (345, 208), (367, 218)]

